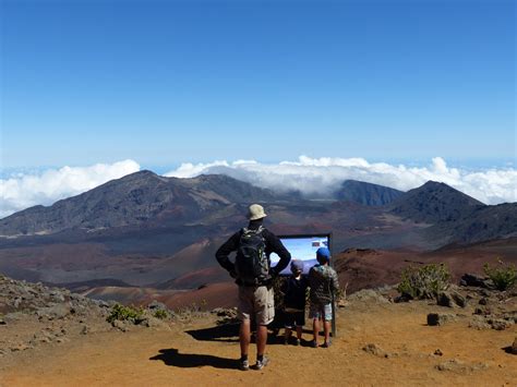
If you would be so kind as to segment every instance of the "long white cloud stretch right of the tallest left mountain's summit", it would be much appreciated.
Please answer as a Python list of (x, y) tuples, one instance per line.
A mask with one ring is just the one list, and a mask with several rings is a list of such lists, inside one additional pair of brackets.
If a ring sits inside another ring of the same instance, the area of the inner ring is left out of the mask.
[(298, 161), (260, 164), (253, 160), (183, 164), (165, 176), (192, 178), (202, 173), (224, 173), (254, 185), (276, 191), (299, 190), (311, 195), (329, 195), (347, 179), (408, 191), (429, 180), (444, 182), (483, 203), (517, 202), (517, 170), (514, 168), (467, 171), (449, 168), (441, 157), (426, 167), (369, 162), (363, 158), (310, 158)]

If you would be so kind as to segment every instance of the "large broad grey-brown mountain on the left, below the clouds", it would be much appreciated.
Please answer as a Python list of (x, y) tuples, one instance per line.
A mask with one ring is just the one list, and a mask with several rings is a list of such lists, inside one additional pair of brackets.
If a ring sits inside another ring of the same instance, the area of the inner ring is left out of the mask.
[(139, 226), (158, 216), (181, 225), (232, 203), (273, 202), (276, 197), (270, 191), (224, 176), (177, 179), (141, 171), (49, 207), (35, 206), (0, 219), (0, 234)]

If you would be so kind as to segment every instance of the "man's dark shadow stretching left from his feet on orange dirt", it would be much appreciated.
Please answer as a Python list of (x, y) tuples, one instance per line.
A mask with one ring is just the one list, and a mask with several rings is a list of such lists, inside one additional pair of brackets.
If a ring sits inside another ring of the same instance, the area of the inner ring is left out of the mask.
[(161, 360), (166, 365), (192, 368), (202, 366), (213, 366), (215, 368), (237, 368), (235, 359), (214, 356), (201, 353), (180, 353), (175, 348), (160, 349), (159, 354), (149, 360)]

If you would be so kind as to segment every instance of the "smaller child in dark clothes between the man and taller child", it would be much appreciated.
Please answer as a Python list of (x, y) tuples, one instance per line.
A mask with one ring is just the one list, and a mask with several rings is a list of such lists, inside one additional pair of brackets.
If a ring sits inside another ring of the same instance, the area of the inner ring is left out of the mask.
[(285, 343), (288, 344), (292, 329), (297, 329), (296, 346), (300, 344), (302, 327), (305, 325), (305, 293), (309, 286), (309, 281), (303, 273), (303, 263), (301, 261), (291, 261), (291, 273), (290, 276), (282, 287), (284, 292), (284, 305), (285, 305), (285, 317), (286, 317), (286, 334)]

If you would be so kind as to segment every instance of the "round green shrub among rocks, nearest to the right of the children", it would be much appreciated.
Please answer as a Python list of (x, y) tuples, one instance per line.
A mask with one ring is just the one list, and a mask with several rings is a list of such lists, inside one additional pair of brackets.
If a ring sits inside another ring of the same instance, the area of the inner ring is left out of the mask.
[(450, 285), (450, 274), (444, 264), (409, 266), (402, 270), (397, 290), (412, 299), (434, 299)]

